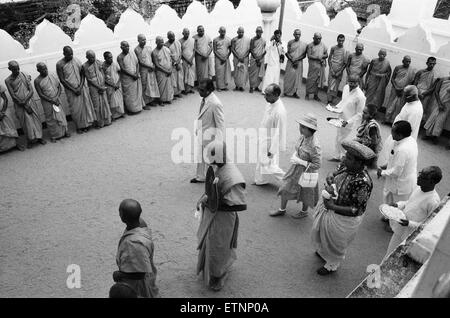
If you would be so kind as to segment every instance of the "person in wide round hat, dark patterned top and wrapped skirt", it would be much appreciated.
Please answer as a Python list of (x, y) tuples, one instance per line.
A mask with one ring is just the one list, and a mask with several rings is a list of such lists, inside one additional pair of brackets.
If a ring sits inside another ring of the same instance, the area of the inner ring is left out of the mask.
[(366, 163), (375, 157), (375, 153), (355, 140), (345, 140), (342, 146), (347, 151), (343, 165), (327, 178), (325, 185), (329, 193), (334, 192), (332, 184), (336, 186), (337, 198), (324, 197), (314, 213), (313, 246), (316, 255), (325, 262), (317, 270), (319, 275), (334, 273), (345, 259), (363, 221), (373, 189)]

